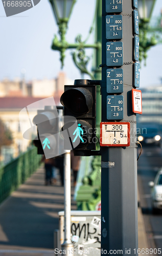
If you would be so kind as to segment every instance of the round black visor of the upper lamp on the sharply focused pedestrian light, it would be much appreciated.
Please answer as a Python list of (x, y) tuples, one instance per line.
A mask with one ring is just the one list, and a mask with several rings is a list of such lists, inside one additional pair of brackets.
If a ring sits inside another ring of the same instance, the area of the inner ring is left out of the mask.
[(74, 88), (64, 92), (60, 102), (76, 115), (88, 113), (93, 105), (92, 94), (85, 88)]

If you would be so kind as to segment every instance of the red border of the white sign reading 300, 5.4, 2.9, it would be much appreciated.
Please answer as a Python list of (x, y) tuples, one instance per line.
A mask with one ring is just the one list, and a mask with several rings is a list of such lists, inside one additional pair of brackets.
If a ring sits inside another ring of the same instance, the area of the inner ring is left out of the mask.
[[(102, 144), (102, 124), (128, 124), (127, 144)], [(100, 123), (100, 146), (130, 146), (130, 123), (129, 122), (101, 122)]]

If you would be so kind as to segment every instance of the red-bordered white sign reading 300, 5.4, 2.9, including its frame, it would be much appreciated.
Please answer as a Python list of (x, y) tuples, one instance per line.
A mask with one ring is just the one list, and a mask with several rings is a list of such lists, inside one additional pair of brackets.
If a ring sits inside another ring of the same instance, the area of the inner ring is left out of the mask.
[(101, 122), (100, 123), (101, 146), (129, 146), (130, 123), (129, 122)]

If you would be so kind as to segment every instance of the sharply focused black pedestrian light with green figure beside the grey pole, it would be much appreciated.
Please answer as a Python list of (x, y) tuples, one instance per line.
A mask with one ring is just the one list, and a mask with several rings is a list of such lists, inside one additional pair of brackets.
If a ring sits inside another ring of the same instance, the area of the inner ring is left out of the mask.
[[(96, 150), (96, 86), (91, 80), (75, 80), (74, 86), (64, 86), (60, 102), (64, 106), (64, 116), (77, 119), (78, 127), (75, 127), (71, 134), (71, 142), (74, 143), (78, 139), (80, 141), (74, 150), (80, 152)], [(64, 125), (62, 131), (66, 127), (67, 125)], [(81, 154), (75, 152), (75, 155)]]

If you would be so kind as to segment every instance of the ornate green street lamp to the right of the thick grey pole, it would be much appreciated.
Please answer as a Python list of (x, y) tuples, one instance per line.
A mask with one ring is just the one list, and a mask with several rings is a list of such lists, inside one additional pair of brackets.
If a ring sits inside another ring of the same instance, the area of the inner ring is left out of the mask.
[(147, 51), (157, 44), (155, 36), (147, 37), (149, 22), (156, 0), (138, 0), (138, 15), (140, 18), (140, 61), (144, 58), (146, 63)]

